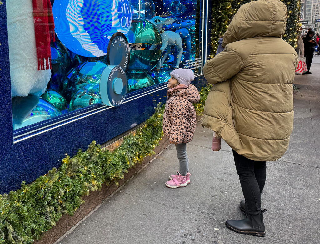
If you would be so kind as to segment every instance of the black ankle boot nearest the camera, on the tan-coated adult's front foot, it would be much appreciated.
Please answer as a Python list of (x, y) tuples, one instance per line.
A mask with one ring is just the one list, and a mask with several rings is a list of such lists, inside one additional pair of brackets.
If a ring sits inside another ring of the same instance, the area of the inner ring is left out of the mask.
[(266, 229), (263, 224), (263, 213), (267, 209), (261, 210), (261, 213), (258, 215), (249, 215), (242, 220), (227, 220), (226, 226), (237, 233), (240, 234), (249, 234), (254, 236), (265, 236)]

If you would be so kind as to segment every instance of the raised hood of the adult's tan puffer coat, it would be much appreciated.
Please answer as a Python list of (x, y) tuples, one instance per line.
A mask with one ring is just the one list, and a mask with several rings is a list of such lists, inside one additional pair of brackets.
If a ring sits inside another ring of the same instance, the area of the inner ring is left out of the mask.
[(282, 37), (288, 12), (283, 2), (259, 0), (243, 4), (234, 15), (222, 46), (252, 37)]

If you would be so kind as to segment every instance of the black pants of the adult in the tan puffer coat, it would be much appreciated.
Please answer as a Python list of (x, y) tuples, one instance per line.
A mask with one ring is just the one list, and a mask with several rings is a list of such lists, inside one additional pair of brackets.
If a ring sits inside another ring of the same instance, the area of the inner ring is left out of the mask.
[(232, 150), (239, 175), (246, 210), (250, 215), (261, 213), (261, 193), (266, 183), (266, 162), (253, 161)]

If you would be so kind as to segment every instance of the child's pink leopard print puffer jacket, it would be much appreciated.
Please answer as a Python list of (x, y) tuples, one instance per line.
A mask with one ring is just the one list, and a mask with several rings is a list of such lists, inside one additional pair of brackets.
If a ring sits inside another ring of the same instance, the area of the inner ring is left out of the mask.
[(170, 141), (191, 142), (196, 129), (196, 110), (192, 103), (200, 100), (194, 85), (178, 85), (167, 92), (163, 115), (163, 132)]

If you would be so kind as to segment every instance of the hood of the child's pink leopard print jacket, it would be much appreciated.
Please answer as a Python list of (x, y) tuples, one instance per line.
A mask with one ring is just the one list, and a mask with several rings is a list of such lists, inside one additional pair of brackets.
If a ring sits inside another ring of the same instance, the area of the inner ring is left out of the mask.
[(199, 92), (194, 85), (177, 85), (175, 88), (171, 88), (167, 92), (168, 98), (171, 96), (179, 96), (192, 103), (199, 102)]

